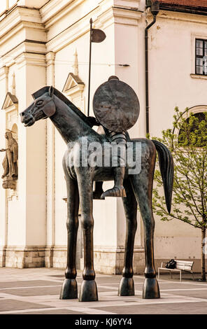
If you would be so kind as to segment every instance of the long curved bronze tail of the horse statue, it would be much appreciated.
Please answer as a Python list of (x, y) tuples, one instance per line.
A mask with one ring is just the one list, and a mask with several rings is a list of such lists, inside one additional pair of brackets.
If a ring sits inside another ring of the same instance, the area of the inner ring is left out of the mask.
[(174, 176), (174, 163), (171, 152), (168, 148), (159, 141), (152, 140), (159, 157), (159, 168), (162, 175), (164, 185), (164, 196), (166, 201), (166, 208), (170, 214), (171, 202), (173, 194), (173, 176)]

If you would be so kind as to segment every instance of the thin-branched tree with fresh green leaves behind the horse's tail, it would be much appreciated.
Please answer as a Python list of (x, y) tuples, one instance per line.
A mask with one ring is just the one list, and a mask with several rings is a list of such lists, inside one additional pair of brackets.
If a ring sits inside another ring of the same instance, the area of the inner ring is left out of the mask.
[(201, 230), (201, 279), (206, 281), (205, 238), (207, 228), (207, 113), (181, 113), (175, 109), (173, 129), (162, 132), (162, 139), (173, 155), (174, 183), (171, 213), (160, 194), (162, 177), (155, 170), (153, 210), (162, 221), (173, 218)]

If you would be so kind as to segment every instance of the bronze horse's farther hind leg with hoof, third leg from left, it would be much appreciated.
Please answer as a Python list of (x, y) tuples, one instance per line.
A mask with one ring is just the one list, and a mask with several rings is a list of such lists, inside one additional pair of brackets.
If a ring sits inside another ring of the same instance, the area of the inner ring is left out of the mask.
[(127, 221), (125, 252), (124, 252), (124, 269), (122, 271), (122, 280), (118, 295), (133, 296), (134, 295), (134, 280), (133, 280), (133, 253), (134, 253), (134, 238), (137, 228), (136, 213), (137, 202), (134, 196), (134, 191), (131, 188), (129, 179), (124, 181), (124, 188), (127, 197), (122, 197), (124, 212)]

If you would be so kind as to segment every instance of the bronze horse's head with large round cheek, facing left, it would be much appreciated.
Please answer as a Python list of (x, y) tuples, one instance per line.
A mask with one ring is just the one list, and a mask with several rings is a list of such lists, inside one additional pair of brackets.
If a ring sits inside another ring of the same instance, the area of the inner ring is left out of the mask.
[(48, 92), (35, 99), (35, 101), (20, 113), (21, 121), (25, 127), (34, 125), (41, 119), (50, 118), (56, 111), (55, 102), (53, 100), (54, 88), (50, 86)]

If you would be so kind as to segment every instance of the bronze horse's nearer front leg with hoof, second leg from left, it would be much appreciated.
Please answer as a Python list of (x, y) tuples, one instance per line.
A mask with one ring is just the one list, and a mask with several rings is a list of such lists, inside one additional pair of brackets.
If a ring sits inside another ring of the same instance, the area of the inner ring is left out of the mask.
[(84, 269), (83, 282), (80, 287), (79, 301), (93, 302), (98, 300), (97, 283), (94, 272), (94, 247), (92, 216), (93, 182), (89, 172), (78, 175), (78, 190), (80, 193), (81, 225), (84, 239)]

